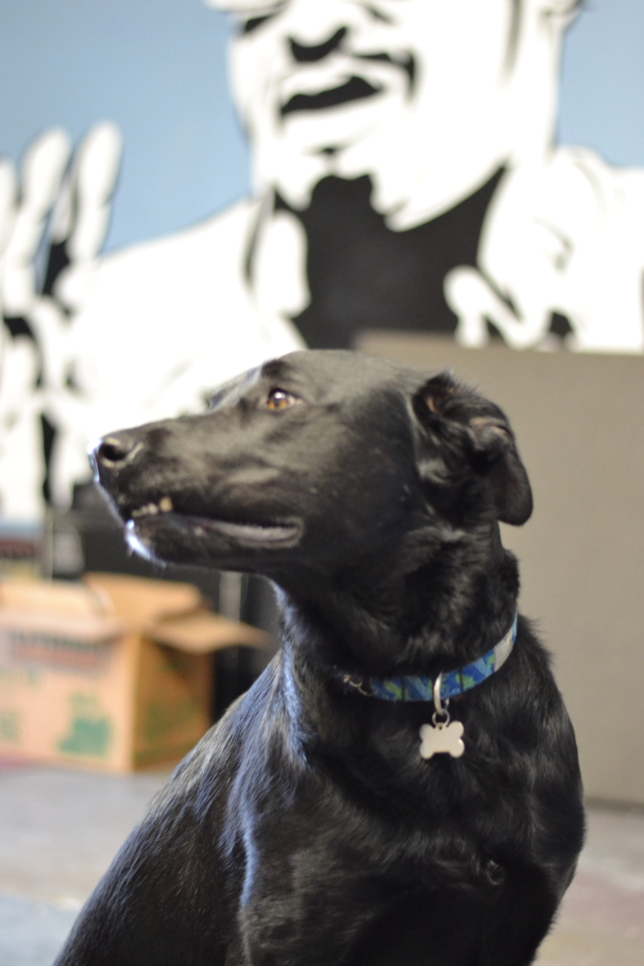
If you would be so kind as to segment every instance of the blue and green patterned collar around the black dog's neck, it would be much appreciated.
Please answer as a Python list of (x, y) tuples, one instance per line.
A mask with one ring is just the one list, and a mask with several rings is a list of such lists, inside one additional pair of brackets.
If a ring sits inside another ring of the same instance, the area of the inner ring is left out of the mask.
[[(446, 699), (462, 695), (477, 684), (487, 680), (494, 671), (501, 668), (510, 656), (517, 639), (517, 619), (508, 633), (484, 654), (478, 661), (466, 668), (448, 671), (441, 675), (440, 697)], [(404, 677), (361, 677), (359, 674), (341, 674), (343, 684), (359, 691), (361, 695), (379, 697), (383, 701), (433, 701), (434, 679), (415, 674)]]

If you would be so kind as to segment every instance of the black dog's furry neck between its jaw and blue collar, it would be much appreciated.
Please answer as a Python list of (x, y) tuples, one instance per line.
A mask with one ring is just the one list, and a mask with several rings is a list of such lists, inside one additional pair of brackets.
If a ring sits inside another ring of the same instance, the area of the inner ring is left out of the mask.
[[(436, 674), (477, 660), (506, 633), (518, 566), (498, 527), (420, 553), (370, 559), (282, 593), (285, 657), (373, 676)], [(478, 538), (477, 538), (478, 537)]]

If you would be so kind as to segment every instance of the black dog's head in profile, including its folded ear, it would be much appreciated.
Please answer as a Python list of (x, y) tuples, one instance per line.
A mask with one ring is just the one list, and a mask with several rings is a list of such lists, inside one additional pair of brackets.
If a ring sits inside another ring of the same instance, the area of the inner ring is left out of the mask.
[(210, 412), (110, 434), (93, 461), (140, 553), (278, 580), (532, 509), (497, 407), (444, 373), (350, 352), (268, 362)]

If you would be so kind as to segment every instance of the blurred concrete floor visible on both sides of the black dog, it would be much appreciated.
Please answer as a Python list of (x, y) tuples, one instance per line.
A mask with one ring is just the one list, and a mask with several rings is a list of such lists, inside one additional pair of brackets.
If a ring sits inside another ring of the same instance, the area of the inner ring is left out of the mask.
[[(0, 766), (0, 966), (50, 966), (163, 775)], [(540, 966), (644, 963), (644, 810), (589, 810)]]

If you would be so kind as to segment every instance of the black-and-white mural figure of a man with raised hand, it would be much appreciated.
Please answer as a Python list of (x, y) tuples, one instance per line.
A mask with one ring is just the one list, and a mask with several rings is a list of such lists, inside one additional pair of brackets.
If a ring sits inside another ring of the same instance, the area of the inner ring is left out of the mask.
[(6, 519), (42, 513), (45, 462), (67, 505), (100, 433), (199, 410), (305, 344), (384, 328), (644, 351), (644, 170), (555, 144), (574, 0), (210, 6), (235, 20), (249, 197), (101, 257), (117, 128), (73, 156), (52, 130), (0, 166)]

